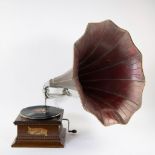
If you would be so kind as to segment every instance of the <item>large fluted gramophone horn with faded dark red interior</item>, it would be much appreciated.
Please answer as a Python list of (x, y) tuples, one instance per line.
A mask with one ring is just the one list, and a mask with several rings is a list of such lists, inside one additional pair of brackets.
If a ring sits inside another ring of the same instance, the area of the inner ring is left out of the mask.
[(126, 124), (142, 102), (142, 55), (128, 31), (110, 20), (89, 23), (74, 44), (73, 70), (51, 87), (77, 89), (83, 107), (104, 125)]

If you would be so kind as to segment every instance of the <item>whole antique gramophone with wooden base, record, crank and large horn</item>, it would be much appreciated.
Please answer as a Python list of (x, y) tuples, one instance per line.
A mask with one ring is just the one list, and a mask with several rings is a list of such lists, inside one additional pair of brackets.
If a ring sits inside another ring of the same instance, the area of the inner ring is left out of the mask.
[[(128, 123), (141, 106), (144, 84), (142, 55), (129, 32), (106, 20), (87, 25), (74, 44), (73, 69), (46, 82), (44, 94), (46, 100), (55, 96), (50, 88), (63, 88), (62, 95), (77, 90), (83, 108), (109, 126)], [(12, 146), (64, 147), (63, 112), (46, 104), (24, 108)], [(68, 131), (76, 133), (69, 124)]]

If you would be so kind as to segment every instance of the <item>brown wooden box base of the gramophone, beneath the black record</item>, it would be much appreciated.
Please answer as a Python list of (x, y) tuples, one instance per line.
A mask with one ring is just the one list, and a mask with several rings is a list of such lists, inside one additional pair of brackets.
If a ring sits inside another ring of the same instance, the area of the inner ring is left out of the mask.
[(12, 147), (63, 148), (66, 129), (62, 125), (62, 114), (53, 119), (30, 120), (20, 115), (15, 120), (17, 137)]

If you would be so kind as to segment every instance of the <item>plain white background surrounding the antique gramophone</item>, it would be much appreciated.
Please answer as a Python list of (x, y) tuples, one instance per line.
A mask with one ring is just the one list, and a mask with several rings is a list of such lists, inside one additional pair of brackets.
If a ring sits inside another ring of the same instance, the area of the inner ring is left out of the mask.
[[(126, 126), (104, 127), (78, 98), (65, 97), (55, 104), (78, 134), (67, 134), (64, 149), (11, 148), (20, 110), (44, 104), (44, 82), (72, 68), (73, 44), (87, 23), (106, 19), (127, 29), (143, 54), (142, 108)], [(154, 0), (0, 0), (0, 154), (154, 155), (154, 53)]]

